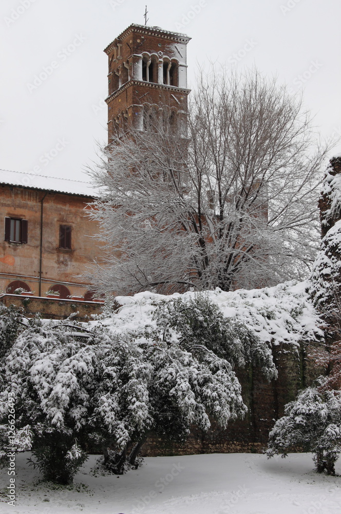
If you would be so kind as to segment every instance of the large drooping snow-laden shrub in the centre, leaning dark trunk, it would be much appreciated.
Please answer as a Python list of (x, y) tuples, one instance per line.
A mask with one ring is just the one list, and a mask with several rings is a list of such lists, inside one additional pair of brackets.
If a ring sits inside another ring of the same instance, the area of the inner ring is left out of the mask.
[(161, 328), (110, 334), (103, 347), (90, 425), (115, 448), (104, 463), (117, 473), (136, 465), (150, 431), (184, 440), (194, 424), (209, 429), (210, 416), (225, 428), (247, 411), (227, 360), (202, 344), (198, 358)]

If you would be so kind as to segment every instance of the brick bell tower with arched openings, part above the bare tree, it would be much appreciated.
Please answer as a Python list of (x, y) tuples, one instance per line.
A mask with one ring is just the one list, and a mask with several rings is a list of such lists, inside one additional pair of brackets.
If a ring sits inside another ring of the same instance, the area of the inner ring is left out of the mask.
[(186, 45), (191, 38), (160, 27), (130, 25), (105, 48), (109, 59), (108, 139), (126, 120), (143, 130), (151, 109), (187, 112)]

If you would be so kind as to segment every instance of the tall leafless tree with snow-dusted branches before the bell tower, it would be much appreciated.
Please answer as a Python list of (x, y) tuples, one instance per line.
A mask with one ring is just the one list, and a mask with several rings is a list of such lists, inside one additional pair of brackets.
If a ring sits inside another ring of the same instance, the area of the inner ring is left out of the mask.
[(91, 172), (106, 250), (98, 289), (227, 291), (304, 276), (328, 145), (301, 102), (258, 72), (212, 71), (187, 119), (162, 99), (144, 107), (144, 130), (119, 130)]

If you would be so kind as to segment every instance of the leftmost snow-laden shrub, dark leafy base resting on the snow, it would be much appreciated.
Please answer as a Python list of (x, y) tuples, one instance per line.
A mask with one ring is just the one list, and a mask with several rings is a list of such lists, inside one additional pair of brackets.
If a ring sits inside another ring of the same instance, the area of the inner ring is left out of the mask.
[(39, 319), (29, 321), (7, 354), (0, 422), (8, 430), (11, 395), (15, 428), (29, 430), (32, 454), (45, 479), (68, 483), (83, 462), (83, 454), (75, 456), (72, 448), (87, 422), (94, 360), (63, 322), (44, 325)]

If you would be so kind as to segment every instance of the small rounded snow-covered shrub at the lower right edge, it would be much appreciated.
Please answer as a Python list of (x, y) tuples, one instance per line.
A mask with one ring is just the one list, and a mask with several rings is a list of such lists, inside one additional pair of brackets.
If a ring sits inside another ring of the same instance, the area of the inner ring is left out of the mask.
[(285, 416), (269, 434), (266, 453), (268, 458), (276, 454), (286, 457), (297, 449), (314, 454), (319, 473), (335, 474), (334, 464), (341, 453), (341, 391), (309, 387), (288, 403)]

